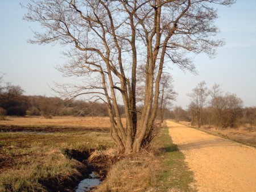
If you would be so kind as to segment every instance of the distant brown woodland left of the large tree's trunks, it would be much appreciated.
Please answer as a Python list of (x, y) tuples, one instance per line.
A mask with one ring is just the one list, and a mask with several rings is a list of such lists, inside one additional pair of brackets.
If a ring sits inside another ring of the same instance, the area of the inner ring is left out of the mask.
[[(0, 78), (0, 81), (2, 78)], [(42, 115), (52, 116), (108, 116), (104, 103), (67, 101), (58, 97), (28, 96), (19, 85), (6, 83), (0, 86), (0, 116)], [(121, 113), (123, 107), (119, 106)]]

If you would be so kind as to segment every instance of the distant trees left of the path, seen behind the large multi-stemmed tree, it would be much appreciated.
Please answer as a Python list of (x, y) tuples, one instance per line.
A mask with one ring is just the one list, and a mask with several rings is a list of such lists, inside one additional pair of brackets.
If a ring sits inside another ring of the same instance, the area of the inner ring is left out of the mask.
[[(68, 100), (59, 97), (46, 97), (41, 95), (24, 95), (25, 91), (19, 85), (10, 82), (3, 84), (0, 76), (0, 116), (108, 116), (108, 109), (105, 103), (86, 102), (82, 100)], [(171, 100), (174, 100), (177, 93), (173, 90), (172, 77), (165, 75), (161, 81), (160, 107), (157, 118), (170, 118)], [(140, 109), (138, 106), (138, 116)], [(125, 108), (118, 105), (119, 113), (125, 118)]]

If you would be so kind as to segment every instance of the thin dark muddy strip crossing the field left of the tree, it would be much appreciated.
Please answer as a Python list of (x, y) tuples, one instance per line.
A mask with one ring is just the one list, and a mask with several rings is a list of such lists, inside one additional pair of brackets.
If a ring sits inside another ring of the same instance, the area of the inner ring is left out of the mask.
[(40, 127), (27, 127), (27, 126), (7, 126), (0, 125), (0, 132), (71, 132), (71, 131), (95, 131), (95, 132), (108, 132), (109, 127), (57, 127), (57, 126), (40, 126)]

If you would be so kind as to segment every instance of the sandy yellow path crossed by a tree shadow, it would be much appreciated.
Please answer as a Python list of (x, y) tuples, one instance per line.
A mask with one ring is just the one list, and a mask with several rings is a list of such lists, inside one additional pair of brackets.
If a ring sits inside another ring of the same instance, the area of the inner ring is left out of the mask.
[(167, 120), (199, 191), (255, 191), (256, 149)]

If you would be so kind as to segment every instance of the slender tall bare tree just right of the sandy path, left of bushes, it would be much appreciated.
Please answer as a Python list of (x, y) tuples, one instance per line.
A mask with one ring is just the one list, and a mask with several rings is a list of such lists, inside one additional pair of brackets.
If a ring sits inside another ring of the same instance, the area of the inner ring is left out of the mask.
[(193, 109), (193, 115), (196, 116), (196, 122), (199, 128), (202, 124), (203, 107), (207, 103), (208, 95), (209, 91), (204, 81), (199, 82), (199, 84), (192, 90), (192, 93), (188, 94), (188, 96), (191, 97), (190, 108)]

